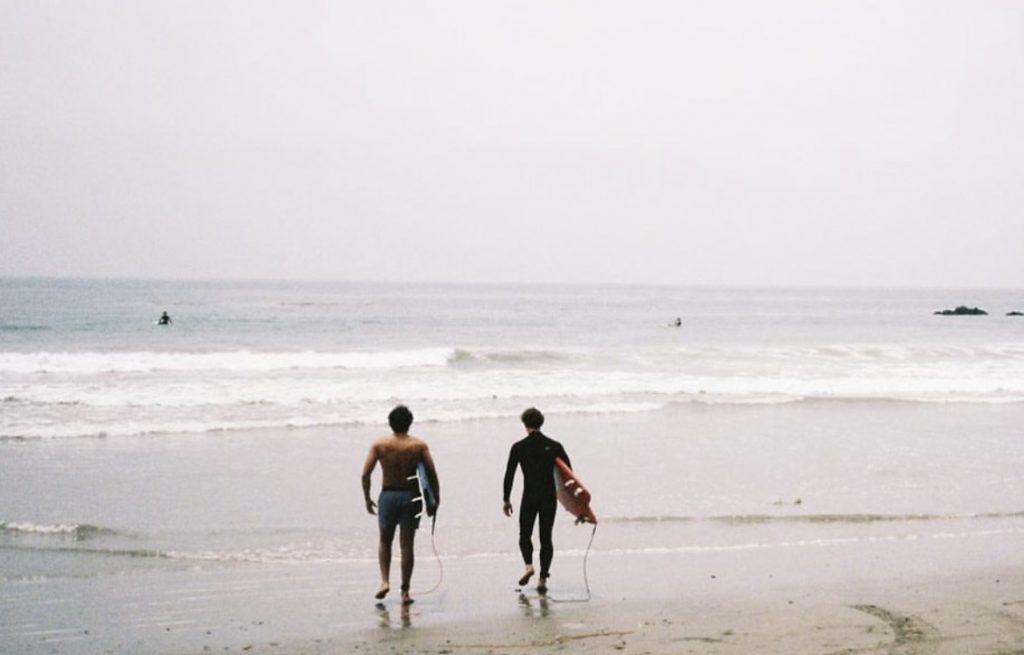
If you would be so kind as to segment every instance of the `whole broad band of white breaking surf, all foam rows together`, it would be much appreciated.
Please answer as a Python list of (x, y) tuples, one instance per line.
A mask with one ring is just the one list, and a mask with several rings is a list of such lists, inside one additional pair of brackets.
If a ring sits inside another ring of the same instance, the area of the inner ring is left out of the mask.
[(5, 439), (854, 399), (1022, 402), (1024, 344), (0, 353)]

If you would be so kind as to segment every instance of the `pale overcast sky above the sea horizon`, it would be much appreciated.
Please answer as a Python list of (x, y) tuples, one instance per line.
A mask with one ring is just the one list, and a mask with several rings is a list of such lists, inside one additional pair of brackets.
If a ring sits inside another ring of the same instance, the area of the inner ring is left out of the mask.
[(0, 0), (0, 274), (1024, 287), (1024, 2)]

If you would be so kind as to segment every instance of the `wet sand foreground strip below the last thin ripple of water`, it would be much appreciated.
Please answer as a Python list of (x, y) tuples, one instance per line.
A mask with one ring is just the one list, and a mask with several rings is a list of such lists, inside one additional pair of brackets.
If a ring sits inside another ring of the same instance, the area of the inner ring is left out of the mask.
[[(4, 607), (16, 611), (5, 612), (3, 630), (12, 652), (40, 653), (1020, 653), (1024, 526), (975, 527), (830, 545), (598, 554), (589, 603), (554, 600), (574, 596), (564, 588), (545, 600), (503, 585), (501, 573), (517, 568), (511, 557), (447, 561), (451, 582), (408, 611), (394, 598), (374, 606), (372, 563), (8, 585)], [(421, 575), (432, 575), (423, 564)], [(575, 564), (562, 562), (566, 576)], [(353, 594), (362, 602), (346, 602)], [(65, 612), (91, 629), (52, 627)]]

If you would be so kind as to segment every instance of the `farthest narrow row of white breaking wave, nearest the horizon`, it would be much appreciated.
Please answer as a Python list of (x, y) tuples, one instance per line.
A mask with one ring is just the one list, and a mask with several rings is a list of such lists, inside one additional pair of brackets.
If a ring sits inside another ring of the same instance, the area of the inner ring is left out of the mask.
[(715, 370), (731, 367), (797, 365), (827, 373), (831, 369), (885, 372), (904, 365), (975, 364), (1024, 365), (1024, 344), (896, 345), (836, 344), (824, 346), (706, 345), (670, 348), (585, 350), (555, 348), (420, 348), (349, 352), (0, 352), (0, 376), (31, 374), (100, 375), (117, 373), (222, 372), (268, 373), (284, 370), (388, 370), (476, 366), (515, 368), (527, 364), (560, 366), (597, 365), (598, 368), (633, 367)]

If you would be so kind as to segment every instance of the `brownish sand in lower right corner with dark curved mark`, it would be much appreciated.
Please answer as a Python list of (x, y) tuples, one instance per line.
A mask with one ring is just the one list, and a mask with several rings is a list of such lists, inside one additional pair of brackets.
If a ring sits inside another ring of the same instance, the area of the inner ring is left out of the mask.
[(984, 568), (898, 583), (780, 586), (739, 596), (566, 606), (536, 595), (487, 620), (417, 627), (381, 612), (357, 637), (262, 653), (1024, 653), (1024, 575)]

